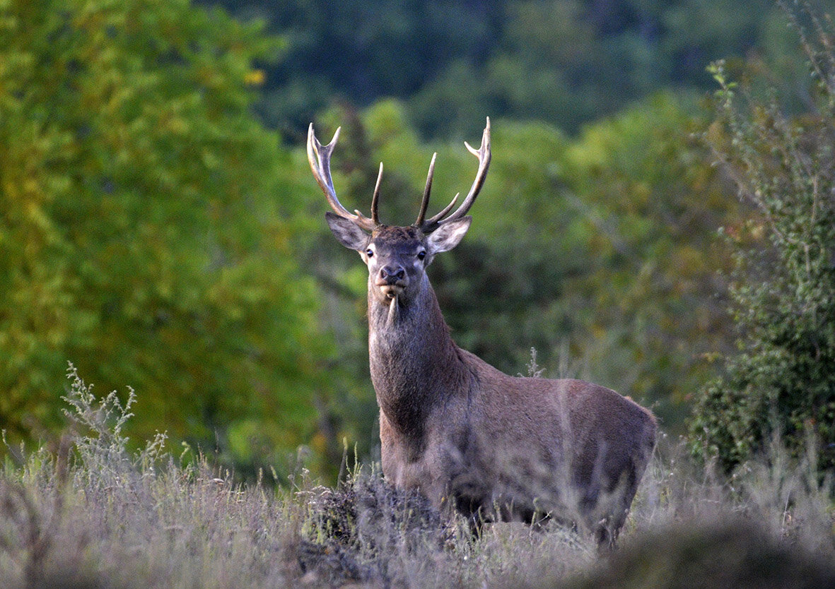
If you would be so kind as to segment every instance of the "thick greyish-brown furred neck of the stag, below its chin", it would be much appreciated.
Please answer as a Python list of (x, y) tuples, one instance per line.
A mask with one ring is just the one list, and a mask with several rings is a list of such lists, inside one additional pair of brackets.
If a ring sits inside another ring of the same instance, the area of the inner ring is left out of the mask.
[[(427, 415), (460, 390), (466, 372), (426, 275), (413, 300), (384, 304), (368, 294), (368, 355), (377, 403), (389, 423), (420, 434)], [(391, 305), (397, 305), (392, 309)]]

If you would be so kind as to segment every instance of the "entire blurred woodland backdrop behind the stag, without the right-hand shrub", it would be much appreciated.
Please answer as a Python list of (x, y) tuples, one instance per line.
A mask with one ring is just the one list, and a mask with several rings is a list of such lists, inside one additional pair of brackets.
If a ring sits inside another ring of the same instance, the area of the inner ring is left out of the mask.
[(735, 349), (717, 229), (759, 218), (701, 141), (706, 64), (769, 63), (783, 111), (813, 104), (772, 0), (199, 3), (0, 0), (9, 439), (61, 427), (70, 360), (137, 390), (131, 435), (245, 474), (373, 456), (366, 272), (326, 228), (306, 126), (342, 125), (349, 208), (383, 161), (382, 219), (410, 224), (433, 151), (433, 210), (468, 189), (485, 115), (473, 228), (429, 270), (453, 337), (682, 425)]

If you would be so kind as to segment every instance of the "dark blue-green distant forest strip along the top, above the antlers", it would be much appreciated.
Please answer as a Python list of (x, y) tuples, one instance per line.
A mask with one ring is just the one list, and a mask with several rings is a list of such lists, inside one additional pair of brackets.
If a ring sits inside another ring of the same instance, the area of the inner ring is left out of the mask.
[(398, 98), (428, 137), (475, 135), (485, 113), (574, 133), (662, 88), (711, 89), (705, 67), (718, 58), (783, 60), (786, 84), (802, 65), (773, 0), (200, 2), (286, 38), (259, 112), (300, 135), (334, 97)]

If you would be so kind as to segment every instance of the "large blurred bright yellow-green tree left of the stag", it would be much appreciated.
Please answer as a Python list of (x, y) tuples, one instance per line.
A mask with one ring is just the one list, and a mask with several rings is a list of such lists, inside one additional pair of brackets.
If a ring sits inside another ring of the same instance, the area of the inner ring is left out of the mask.
[(187, 0), (0, 3), (0, 427), (58, 425), (68, 360), (131, 430), (251, 463), (311, 434), (295, 162), (248, 112), (281, 47)]

